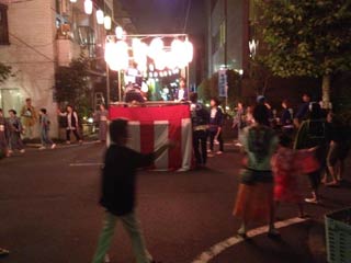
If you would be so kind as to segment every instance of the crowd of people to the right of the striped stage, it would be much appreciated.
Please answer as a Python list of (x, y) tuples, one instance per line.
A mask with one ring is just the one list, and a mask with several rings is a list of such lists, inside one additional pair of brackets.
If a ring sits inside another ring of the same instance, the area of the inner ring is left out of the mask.
[[(234, 215), (241, 218), (238, 235), (246, 237), (249, 222), (265, 218), (270, 237), (279, 236), (274, 228), (279, 204), (292, 203), (298, 216), (305, 217), (303, 203), (319, 204), (319, 187), (338, 186), (342, 181), (344, 159), (350, 150), (350, 128), (331, 111), (303, 95), (303, 103), (293, 114), (290, 102), (282, 101), (281, 115), (273, 111), (264, 96), (258, 96), (254, 106), (237, 104), (233, 128), (238, 132), (236, 146), (245, 152), (244, 169)], [(218, 101), (211, 101), (211, 113), (191, 94), (193, 148), (196, 163), (206, 163), (207, 153), (218, 141), (223, 152), (223, 112)], [(200, 132), (201, 130), (201, 132)], [(207, 140), (210, 139), (210, 149)], [(201, 145), (201, 149), (199, 146)], [(303, 198), (298, 176), (306, 174), (312, 196)]]

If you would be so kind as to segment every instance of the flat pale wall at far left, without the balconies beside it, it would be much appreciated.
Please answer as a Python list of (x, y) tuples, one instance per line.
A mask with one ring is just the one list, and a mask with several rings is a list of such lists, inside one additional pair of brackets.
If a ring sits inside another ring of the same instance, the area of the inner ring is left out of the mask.
[[(12, 67), (15, 77), (0, 89), (19, 89), (14, 94), (24, 104), (32, 98), (33, 105), (46, 107), (57, 130), (56, 104), (53, 101), (55, 75), (55, 1), (34, 0), (10, 3), (8, 10), (10, 45), (0, 46), (0, 60)], [(9, 100), (9, 99), (7, 99)], [(13, 98), (15, 100), (15, 98)], [(7, 107), (19, 105), (8, 103)], [(9, 108), (4, 108), (8, 111)], [(35, 135), (38, 130), (35, 129)], [(56, 134), (53, 134), (56, 136)]]

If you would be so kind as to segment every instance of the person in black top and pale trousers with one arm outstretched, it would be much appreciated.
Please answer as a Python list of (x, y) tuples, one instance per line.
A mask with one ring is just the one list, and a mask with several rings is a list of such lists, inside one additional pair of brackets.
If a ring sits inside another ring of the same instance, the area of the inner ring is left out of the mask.
[(105, 152), (102, 170), (102, 196), (100, 204), (106, 209), (103, 228), (92, 263), (102, 263), (111, 245), (117, 221), (121, 221), (132, 240), (137, 263), (154, 262), (147, 252), (135, 214), (136, 171), (150, 167), (172, 144), (165, 144), (154, 153), (141, 155), (126, 147), (128, 123), (115, 119), (110, 124), (111, 146)]

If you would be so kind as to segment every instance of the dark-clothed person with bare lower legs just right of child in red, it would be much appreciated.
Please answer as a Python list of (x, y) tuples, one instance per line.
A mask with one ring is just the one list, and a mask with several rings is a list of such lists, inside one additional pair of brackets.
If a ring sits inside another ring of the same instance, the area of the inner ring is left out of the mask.
[(301, 124), (294, 145), (295, 149), (309, 149), (317, 147), (316, 155), (320, 163), (320, 169), (307, 174), (312, 188), (312, 198), (305, 198), (305, 202), (307, 203), (319, 203), (318, 190), (321, 180), (321, 172), (326, 169), (328, 137), (329, 129), (326, 124), (326, 119), (322, 116), (320, 105), (318, 103), (313, 103), (309, 118)]

